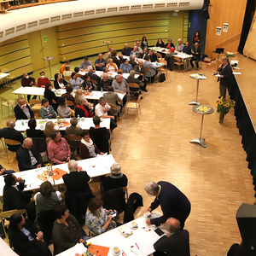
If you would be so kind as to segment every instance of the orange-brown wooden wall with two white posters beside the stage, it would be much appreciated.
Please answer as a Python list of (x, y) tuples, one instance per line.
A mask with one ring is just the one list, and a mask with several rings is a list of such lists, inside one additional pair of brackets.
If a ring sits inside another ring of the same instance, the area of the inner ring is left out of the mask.
[[(240, 33), (243, 24), (247, 0), (211, 0), (209, 7), (210, 19), (207, 20), (206, 54), (212, 55), (212, 50), (224, 47), (225, 51), (236, 52), (240, 42)], [(216, 35), (216, 27), (229, 24), (229, 32)]]

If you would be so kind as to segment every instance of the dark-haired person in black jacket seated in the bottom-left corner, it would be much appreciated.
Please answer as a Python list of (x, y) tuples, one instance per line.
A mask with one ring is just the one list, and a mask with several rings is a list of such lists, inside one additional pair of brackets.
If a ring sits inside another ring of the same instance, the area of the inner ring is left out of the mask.
[(44, 234), (38, 226), (29, 222), (20, 213), (9, 220), (9, 244), (20, 256), (51, 256), (49, 247), (42, 241)]

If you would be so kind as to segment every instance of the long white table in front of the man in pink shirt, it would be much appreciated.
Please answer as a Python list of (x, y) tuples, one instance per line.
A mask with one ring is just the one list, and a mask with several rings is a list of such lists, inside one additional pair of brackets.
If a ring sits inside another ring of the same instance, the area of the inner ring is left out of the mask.
[[(77, 161), (79, 166), (83, 168), (84, 171), (88, 173), (90, 177), (99, 177), (102, 175), (107, 175), (110, 173), (110, 167), (115, 163), (112, 154), (108, 155), (99, 155), (94, 158), (85, 159), (85, 160), (78, 160)], [(56, 165), (52, 167), (53, 170), (59, 168), (67, 173), (69, 173), (66, 164)], [(40, 175), (42, 172), (46, 171), (47, 167), (32, 169), (23, 172), (15, 172), (16, 177), (22, 177), (25, 180), (26, 188), (24, 191), (39, 189), (40, 184), (44, 182), (44, 180), (39, 179), (37, 176)], [(53, 180), (50, 177), (49, 182), (53, 185), (61, 185), (63, 184), (62, 177), (59, 180)], [(3, 196), (3, 187), (4, 187), (4, 176), (0, 176), (0, 197)]]

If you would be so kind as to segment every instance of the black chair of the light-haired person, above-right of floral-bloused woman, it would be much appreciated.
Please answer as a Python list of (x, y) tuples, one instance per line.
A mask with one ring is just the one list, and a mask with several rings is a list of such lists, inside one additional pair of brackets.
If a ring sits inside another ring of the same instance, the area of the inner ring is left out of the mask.
[(102, 196), (103, 207), (106, 209), (116, 210), (118, 214), (124, 212), (126, 207), (125, 198), (127, 198), (126, 187), (108, 190)]

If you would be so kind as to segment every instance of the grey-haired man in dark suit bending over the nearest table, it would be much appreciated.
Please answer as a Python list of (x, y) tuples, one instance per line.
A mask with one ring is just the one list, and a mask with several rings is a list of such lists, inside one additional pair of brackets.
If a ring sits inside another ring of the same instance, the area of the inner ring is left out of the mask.
[(159, 226), (166, 222), (167, 218), (177, 218), (180, 222), (180, 228), (183, 230), (185, 220), (189, 217), (191, 205), (189, 199), (172, 183), (153, 181), (147, 183), (144, 187), (148, 195), (155, 196), (148, 212), (152, 212), (155, 208), (161, 207), (163, 216), (160, 218), (148, 219), (146, 223)]

